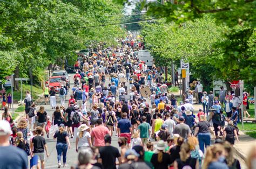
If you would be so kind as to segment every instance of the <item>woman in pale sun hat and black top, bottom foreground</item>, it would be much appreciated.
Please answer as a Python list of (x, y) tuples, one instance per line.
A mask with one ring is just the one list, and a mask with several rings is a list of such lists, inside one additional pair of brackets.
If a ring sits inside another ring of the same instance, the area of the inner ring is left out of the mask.
[(170, 155), (165, 153), (164, 140), (157, 142), (156, 149), (158, 153), (154, 153), (151, 158), (151, 163), (155, 169), (167, 169), (168, 165), (171, 164)]

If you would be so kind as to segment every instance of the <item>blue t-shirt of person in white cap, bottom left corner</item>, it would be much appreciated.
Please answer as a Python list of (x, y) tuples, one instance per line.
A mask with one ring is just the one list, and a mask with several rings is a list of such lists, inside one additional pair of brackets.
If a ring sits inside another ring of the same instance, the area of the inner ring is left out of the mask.
[(0, 152), (0, 168), (28, 168), (28, 155), (24, 150), (10, 145), (0, 146)]

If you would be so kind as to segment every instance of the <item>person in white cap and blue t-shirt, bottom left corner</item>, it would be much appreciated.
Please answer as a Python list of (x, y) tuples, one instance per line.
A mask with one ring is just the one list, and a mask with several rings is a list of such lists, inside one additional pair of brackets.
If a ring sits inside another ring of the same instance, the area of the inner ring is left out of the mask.
[(24, 150), (10, 145), (11, 127), (8, 121), (0, 121), (0, 168), (28, 168), (28, 155)]

